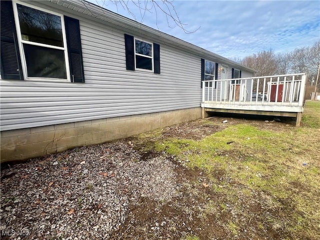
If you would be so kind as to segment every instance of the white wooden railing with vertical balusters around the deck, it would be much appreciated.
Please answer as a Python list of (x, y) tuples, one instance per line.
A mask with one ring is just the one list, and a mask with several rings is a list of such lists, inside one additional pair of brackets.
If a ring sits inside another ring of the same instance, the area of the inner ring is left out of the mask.
[(303, 106), (306, 73), (206, 80), (202, 102), (236, 105)]

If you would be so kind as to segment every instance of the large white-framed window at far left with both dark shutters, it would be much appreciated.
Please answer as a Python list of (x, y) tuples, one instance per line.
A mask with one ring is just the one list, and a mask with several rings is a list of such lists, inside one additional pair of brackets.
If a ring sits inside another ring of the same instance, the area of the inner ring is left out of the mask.
[(84, 82), (77, 19), (1, 1), (0, 24), (1, 78)]

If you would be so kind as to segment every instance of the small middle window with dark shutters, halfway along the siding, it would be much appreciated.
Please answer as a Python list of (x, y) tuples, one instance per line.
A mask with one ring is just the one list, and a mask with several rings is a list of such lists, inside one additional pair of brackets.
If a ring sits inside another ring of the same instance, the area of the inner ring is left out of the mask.
[(127, 70), (147, 70), (160, 74), (160, 46), (124, 34)]

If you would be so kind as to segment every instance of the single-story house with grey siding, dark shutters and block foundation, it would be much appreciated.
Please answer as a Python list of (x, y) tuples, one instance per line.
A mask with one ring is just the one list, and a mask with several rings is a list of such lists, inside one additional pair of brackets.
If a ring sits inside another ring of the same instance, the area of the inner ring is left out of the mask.
[(1, 162), (200, 118), (203, 90), (254, 72), (90, 2), (0, 7)]

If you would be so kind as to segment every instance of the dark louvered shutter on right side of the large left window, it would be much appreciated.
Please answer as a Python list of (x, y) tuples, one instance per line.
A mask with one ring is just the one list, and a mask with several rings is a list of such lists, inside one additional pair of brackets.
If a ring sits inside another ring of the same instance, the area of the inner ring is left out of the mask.
[(84, 82), (79, 20), (64, 16), (71, 82)]

